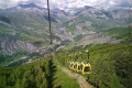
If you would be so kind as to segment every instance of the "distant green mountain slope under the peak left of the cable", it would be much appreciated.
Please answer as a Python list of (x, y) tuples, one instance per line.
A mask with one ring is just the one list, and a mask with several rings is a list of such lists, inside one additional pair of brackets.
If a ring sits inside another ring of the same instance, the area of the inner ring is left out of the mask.
[[(31, 4), (30, 4), (31, 6)], [(0, 16), (3, 22), (6, 19), (10, 20), (9, 25), (18, 29), (13, 32), (14, 36), (16, 35), (19, 40), (35, 44), (36, 46), (50, 44), (50, 33), (48, 33), (48, 21), (47, 21), (47, 11), (45, 9), (40, 9), (36, 6), (25, 7), (19, 6), (20, 9), (12, 8), (14, 11), (3, 11)], [(24, 8), (24, 9), (23, 9)], [(34, 8), (38, 8), (34, 10)], [(15, 10), (16, 9), (16, 10)], [(6, 15), (3, 15), (6, 14)], [(52, 29), (55, 29), (59, 24), (59, 19), (56, 20), (52, 15)], [(4, 19), (4, 20), (3, 20)], [(4, 23), (7, 23), (4, 21)], [(1, 28), (6, 29), (6, 28)], [(53, 33), (56, 33), (56, 30), (52, 30)], [(1, 33), (2, 34), (2, 33)], [(7, 34), (8, 35), (8, 34)], [(10, 35), (11, 36), (11, 35)], [(55, 36), (53, 34), (53, 36)], [(61, 41), (58, 36), (55, 36), (54, 40)]]

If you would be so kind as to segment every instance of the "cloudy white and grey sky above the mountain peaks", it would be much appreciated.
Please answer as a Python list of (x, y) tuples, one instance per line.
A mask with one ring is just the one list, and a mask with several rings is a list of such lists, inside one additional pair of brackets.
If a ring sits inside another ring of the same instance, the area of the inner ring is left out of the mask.
[[(35, 3), (46, 8), (46, 0), (0, 0), (0, 9), (11, 8), (21, 3)], [(72, 9), (85, 6), (98, 9), (127, 9), (132, 8), (132, 0), (50, 0), (52, 8)]]

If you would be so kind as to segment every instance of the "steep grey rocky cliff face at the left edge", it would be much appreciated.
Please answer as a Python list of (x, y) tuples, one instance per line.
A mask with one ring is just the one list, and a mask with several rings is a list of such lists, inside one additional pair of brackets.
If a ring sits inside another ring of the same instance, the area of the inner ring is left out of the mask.
[(18, 52), (33, 53), (37, 48), (33, 44), (18, 40), (0, 37), (0, 53), (3, 55), (13, 55)]

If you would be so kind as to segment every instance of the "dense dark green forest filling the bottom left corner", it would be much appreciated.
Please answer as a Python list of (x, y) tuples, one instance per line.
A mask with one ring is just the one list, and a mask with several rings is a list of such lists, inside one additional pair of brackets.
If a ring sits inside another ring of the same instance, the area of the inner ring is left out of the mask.
[(50, 61), (41, 61), (13, 68), (0, 69), (0, 88), (50, 87)]

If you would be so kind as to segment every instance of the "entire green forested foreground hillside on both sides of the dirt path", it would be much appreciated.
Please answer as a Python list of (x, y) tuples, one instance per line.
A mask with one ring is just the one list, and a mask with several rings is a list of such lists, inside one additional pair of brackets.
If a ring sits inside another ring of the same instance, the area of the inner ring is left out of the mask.
[[(0, 80), (0, 82), (2, 85), (0, 86), (1, 87), (18, 87), (18, 86), (31, 87), (31, 84), (34, 82), (32, 85), (33, 87), (37, 87), (37, 86), (38, 87), (43, 86), (43, 88), (48, 88), (51, 86), (55, 87), (57, 86), (56, 84), (53, 84), (53, 85), (50, 85), (50, 84), (54, 81), (59, 84), (59, 81), (66, 80), (65, 79), (66, 75), (64, 76), (63, 73), (59, 74), (61, 69), (55, 70), (56, 67), (52, 66), (53, 64), (52, 63), (50, 64), (50, 62), (53, 62), (54, 64), (58, 64), (59, 66), (68, 68), (67, 63), (72, 61), (68, 55), (77, 54), (78, 56), (77, 62), (80, 62), (81, 57), (79, 55), (79, 52), (82, 52), (82, 62), (87, 62), (87, 54), (85, 53), (86, 50), (89, 50), (90, 52), (89, 62), (92, 67), (91, 74), (82, 75), (85, 78), (87, 78), (88, 82), (90, 82), (95, 87), (100, 87), (100, 88), (103, 88), (103, 87), (130, 88), (131, 87), (132, 85), (131, 84), (132, 81), (132, 78), (131, 78), (132, 77), (131, 76), (132, 75), (131, 74), (132, 73), (131, 72), (132, 45), (131, 44), (102, 44), (102, 45), (96, 45), (96, 46), (87, 45), (82, 50), (81, 50), (81, 46), (74, 47), (68, 51), (62, 50), (56, 52), (53, 55), (52, 61), (50, 61), (50, 57), (44, 57), (43, 61), (26, 64), (23, 66), (1, 68), (0, 76), (2, 80)], [(75, 61), (75, 58), (73, 61)], [(50, 67), (53, 67), (53, 68), (50, 68)], [(25, 70), (29, 70), (29, 72), (25, 72)], [(15, 73), (18, 72), (19, 74), (15, 75)], [(58, 80), (58, 79), (52, 78), (54, 77), (55, 72), (56, 72), (56, 75), (58, 74), (63, 75), (64, 79)], [(44, 74), (44, 76), (42, 74)], [(64, 84), (66, 85), (66, 81), (64, 81)], [(74, 85), (74, 82), (70, 82), (70, 85), (73, 87), (77, 87), (77, 84)], [(69, 84), (68, 84), (68, 87), (69, 87)], [(66, 86), (63, 86), (62, 88), (66, 88)]]

